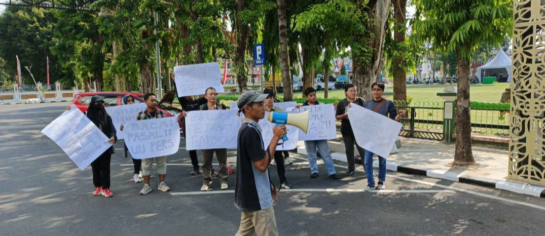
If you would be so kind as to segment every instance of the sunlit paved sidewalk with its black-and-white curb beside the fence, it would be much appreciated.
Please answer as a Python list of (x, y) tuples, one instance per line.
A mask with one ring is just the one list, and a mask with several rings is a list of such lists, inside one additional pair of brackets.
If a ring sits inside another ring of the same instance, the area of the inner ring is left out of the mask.
[[(508, 152), (506, 149), (473, 146), (473, 155), (477, 166), (452, 167), (455, 144), (404, 137), (399, 137), (399, 140), (401, 148), (398, 153), (388, 156), (387, 170), (545, 197), (544, 186), (507, 180)], [(298, 153), (306, 154), (304, 143), (298, 144)], [(342, 141), (331, 140), (329, 147), (333, 159), (346, 162)], [(361, 164), (357, 151), (356, 155), (356, 162)], [(373, 161), (373, 166), (378, 167), (378, 161)]]

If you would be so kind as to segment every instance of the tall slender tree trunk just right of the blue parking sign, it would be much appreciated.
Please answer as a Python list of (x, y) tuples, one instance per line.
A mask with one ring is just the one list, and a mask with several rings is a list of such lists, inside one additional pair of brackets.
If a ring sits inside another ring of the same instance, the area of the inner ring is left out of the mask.
[(278, 4), (278, 37), (280, 40), (280, 65), (282, 69), (282, 84), (284, 101), (293, 101), (293, 79), (289, 77), (288, 54), (288, 20), (286, 17), (286, 0), (277, 0)]

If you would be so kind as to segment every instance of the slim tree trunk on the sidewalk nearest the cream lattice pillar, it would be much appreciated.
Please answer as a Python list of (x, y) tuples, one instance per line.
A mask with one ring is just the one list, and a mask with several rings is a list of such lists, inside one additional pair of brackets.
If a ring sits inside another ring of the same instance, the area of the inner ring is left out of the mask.
[(471, 104), (469, 99), (469, 60), (458, 55), (458, 94), (456, 104), (456, 152), (454, 165), (475, 164), (471, 151)]

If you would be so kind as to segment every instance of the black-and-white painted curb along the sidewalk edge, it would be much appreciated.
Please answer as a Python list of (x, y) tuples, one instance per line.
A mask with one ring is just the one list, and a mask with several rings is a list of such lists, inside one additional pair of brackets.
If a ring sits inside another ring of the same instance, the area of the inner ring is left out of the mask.
[[(297, 147), (297, 153), (305, 154), (305, 147)], [(346, 154), (344, 153), (331, 153), (333, 160), (346, 161)], [(362, 165), (361, 159), (355, 158), (356, 164)], [(373, 161), (373, 167), (378, 167), (378, 161)], [(458, 174), (454, 172), (444, 171), (444, 170), (427, 170), (421, 168), (415, 168), (410, 166), (400, 166), (396, 162), (386, 162), (386, 170), (403, 172), (406, 174), (414, 174), (419, 176), (426, 176), (436, 179), (446, 179), (464, 184), (473, 184), (483, 187), (492, 187), (494, 189), (507, 190), (511, 192), (516, 192), (524, 195), (530, 195), (535, 197), (545, 198), (545, 187), (521, 184), (515, 181), (510, 180), (497, 180), (497, 179), (488, 179), (488, 178), (475, 178), (473, 176), (467, 176), (464, 174)]]

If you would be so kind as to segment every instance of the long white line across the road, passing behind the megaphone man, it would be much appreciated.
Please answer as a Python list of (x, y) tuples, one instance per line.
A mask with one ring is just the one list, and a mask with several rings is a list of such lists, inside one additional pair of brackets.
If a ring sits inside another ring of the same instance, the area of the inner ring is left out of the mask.
[[(171, 192), (173, 196), (234, 193), (234, 190)], [(362, 189), (282, 189), (280, 192), (366, 192)], [(452, 190), (373, 190), (368, 193), (456, 193)]]

